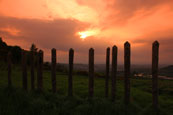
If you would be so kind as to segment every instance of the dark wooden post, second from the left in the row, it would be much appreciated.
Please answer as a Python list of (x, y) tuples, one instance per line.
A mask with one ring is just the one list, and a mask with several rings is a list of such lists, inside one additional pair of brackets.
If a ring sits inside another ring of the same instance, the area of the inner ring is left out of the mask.
[(27, 63), (26, 63), (26, 52), (22, 51), (22, 78), (23, 78), (23, 89), (28, 90), (28, 78), (27, 78)]

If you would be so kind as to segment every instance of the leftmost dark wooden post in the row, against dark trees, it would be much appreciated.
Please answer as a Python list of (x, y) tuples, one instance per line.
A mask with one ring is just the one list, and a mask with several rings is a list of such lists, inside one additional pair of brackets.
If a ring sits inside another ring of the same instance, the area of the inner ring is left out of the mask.
[(8, 52), (7, 60), (8, 60), (8, 87), (11, 87), (12, 85), (11, 83), (11, 52)]

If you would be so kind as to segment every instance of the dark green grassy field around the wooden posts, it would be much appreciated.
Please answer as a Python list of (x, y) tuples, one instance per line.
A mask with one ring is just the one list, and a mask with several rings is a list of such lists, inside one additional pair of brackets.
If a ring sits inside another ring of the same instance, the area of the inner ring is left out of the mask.
[[(131, 104), (124, 105), (124, 82), (118, 79), (115, 102), (104, 98), (104, 78), (95, 78), (94, 98), (88, 100), (88, 77), (74, 75), (74, 97), (67, 97), (67, 75), (57, 73), (56, 94), (51, 92), (51, 73), (44, 72), (44, 92), (22, 90), (19, 68), (12, 71), (12, 88), (7, 88), (7, 71), (0, 69), (0, 115), (154, 115), (151, 79), (131, 79)], [(30, 88), (30, 74), (28, 72)], [(173, 113), (173, 81), (159, 80), (159, 115)]]

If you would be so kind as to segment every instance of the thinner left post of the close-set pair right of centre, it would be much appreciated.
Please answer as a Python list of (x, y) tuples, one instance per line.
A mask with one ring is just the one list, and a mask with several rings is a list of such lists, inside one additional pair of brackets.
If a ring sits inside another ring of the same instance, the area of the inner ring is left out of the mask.
[(110, 48), (106, 50), (106, 77), (105, 77), (105, 97), (109, 95), (109, 64), (110, 64)]

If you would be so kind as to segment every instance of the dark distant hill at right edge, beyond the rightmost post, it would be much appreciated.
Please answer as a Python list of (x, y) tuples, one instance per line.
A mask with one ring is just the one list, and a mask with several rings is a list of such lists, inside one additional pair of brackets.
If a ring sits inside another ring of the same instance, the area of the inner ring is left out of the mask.
[(173, 65), (169, 65), (167, 67), (161, 68), (159, 70), (159, 74), (167, 76), (167, 77), (173, 77)]

